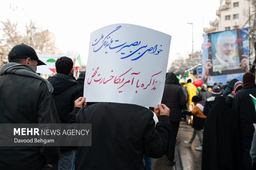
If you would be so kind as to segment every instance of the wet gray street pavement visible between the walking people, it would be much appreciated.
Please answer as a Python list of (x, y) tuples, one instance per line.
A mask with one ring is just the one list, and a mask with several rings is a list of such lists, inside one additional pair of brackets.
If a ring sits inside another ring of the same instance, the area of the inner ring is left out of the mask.
[(190, 140), (192, 133), (193, 128), (184, 121), (181, 121), (177, 136), (180, 143), (175, 147), (176, 164), (167, 166), (167, 161), (164, 157), (152, 158), (152, 170), (201, 170), (202, 151), (195, 150), (200, 145), (198, 137), (195, 137), (191, 148), (187, 147), (184, 143), (185, 140)]

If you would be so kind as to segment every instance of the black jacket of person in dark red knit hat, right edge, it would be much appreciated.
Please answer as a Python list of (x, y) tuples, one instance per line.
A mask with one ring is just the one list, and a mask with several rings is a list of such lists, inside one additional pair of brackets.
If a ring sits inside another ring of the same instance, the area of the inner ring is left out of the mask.
[(249, 94), (256, 96), (256, 87), (243, 87), (233, 99), (232, 109), (239, 123), (240, 133), (252, 137), (256, 123), (255, 106)]

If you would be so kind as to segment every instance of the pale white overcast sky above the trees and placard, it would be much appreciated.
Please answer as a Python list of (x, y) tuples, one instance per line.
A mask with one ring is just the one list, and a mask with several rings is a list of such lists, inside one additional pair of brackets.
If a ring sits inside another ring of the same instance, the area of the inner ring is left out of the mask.
[[(215, 20), (219, 0), (8, 0), (0, 2), (0, 21), (18, 23), (20, 32), (32, 20), (37, 28), (55, 34), (55, 45), (65, 54), (80, 54), (87, 64), (90, 33), (114, 23), (144, 26), (171, 35), (168, 66), (200, 51), (203, 28)], [(12, 4), (12, 9), (10, 9)]]

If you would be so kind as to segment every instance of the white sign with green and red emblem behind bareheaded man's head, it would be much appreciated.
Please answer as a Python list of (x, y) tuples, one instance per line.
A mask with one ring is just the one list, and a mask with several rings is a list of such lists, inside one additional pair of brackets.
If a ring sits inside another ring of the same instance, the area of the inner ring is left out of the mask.
[(60, 54), (60, 55), (45, 55), (45, 54), (38, 54), (37, 55), (39, 60), (43, 61), (46, 65), (39, 65), (37, 66), (36, 72), (43, 73), (46, 75), (50, 75), (52, 73), (57, 73), (55, 68), (55, 62), (58, 58), (61, 57), (69, 57), (73, 61), (73, 54)]

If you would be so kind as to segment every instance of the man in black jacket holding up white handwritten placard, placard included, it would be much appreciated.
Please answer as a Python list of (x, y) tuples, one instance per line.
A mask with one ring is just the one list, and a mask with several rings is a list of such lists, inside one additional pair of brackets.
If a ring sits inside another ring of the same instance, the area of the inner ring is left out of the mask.
[[(159, 103), (170, 43), (170, 35), (130, 24), (91, 33), (84, 96), (99, 103), (79, 110), (85, 101), (79, 98), (69, 116), (93, 130), (92, 147), (78, 147), (77, 170), (142, 170), (143, 154), (164, 156), (170, 109)], [(156, 126), (154, 113), (143, 106), (158, 106)]]

